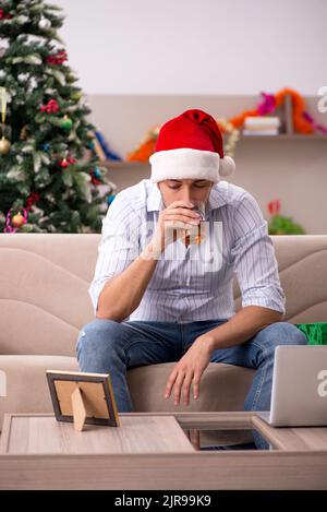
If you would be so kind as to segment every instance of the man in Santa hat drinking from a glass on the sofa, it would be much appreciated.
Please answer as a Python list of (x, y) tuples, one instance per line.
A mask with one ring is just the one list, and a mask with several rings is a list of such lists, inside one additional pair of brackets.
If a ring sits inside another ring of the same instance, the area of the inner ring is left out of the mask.
[[(267, 222), (249, 192), (220, 180), (234, 163), (206, 112), (187, 110), (164, 124), (150, 163), (150, 180), (120, 192), (104, 219), (89, 288), (96, 320), (78, 336), (81, 370), (110, 373), (119, 410), (130, 412), (128, 368), (175, 361), (162, 390), (175, 404), (198, 397), (210, 361), (256, 368), (244, 406), (268, 410), (276, 346), (306, 338), (281, 321), (284, 295)], [(209, 226), (198, 245), (183, 238), (199, 224), (192, 201), (205, 203)], [(207, 261), (199, 257), (205, 246)]]

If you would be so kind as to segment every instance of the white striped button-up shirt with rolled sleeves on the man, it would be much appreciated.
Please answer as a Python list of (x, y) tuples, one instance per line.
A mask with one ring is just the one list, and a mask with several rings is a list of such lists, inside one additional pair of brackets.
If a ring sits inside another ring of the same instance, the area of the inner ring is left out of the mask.
[[(95, 314), (106, 281), (123, 272), (150, 241), (162, 207), (160, 191), (148, 179), (117, 194), (102, 221), (98, 260), (88, 290)], [(235, 313), (234, 277), (242, 307), (263, 306), (284, 313), (286, 298), (272, 241), (255, 199), (241, 187), (219, 181), (211, 188), (206, 221), (209, 226), (220, 223), (220, 267), (213, 271), (203, 259), (192, 259), (202, 245), (186, 248), (182, 240), (173, 242), (158, 260), (130, 320), (186, 323), (229, 319)], [(209, 234), (207, 242), (213, 250), (214, 236)], [(177, 258), (166, 258), (172, 246)], [(218, 252), (217, 247), (215, 250)]]

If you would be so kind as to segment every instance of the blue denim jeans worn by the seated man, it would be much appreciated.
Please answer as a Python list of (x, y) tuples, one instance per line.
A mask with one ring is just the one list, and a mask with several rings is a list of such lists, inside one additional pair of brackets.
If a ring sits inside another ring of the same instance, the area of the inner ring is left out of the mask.
[[(81, 371), (110, 373), (118, 410), (131, 412), (128, 369), (178, 361), (196, 337), (225, 322), (227, 320), (202, 320), (181, 324), (134, 320), (119, 323), (96, 319), (80, 332), (78, 365)], [(269, 410), (275, 348), (305, 344), (306, 336), (295, 325), (276, 322), (242, 345), (214, 350), (210, 361), (256, 369), (244, 409)]]

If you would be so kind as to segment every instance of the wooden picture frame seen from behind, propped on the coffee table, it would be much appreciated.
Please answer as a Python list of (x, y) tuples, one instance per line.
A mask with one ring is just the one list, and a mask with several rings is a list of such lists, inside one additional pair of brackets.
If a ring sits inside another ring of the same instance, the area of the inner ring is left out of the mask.
[(109, 373), (47, 370), (55, 416), (82, 431), (85, 424), (119, 427)]

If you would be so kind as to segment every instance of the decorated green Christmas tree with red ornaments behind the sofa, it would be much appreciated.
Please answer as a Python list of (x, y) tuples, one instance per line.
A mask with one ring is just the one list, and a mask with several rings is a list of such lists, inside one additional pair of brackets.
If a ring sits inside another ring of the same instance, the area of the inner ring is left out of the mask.
[(0, 233), (99, 233), (114, 197), (62, 23), (43, 0), (0, 0)]

